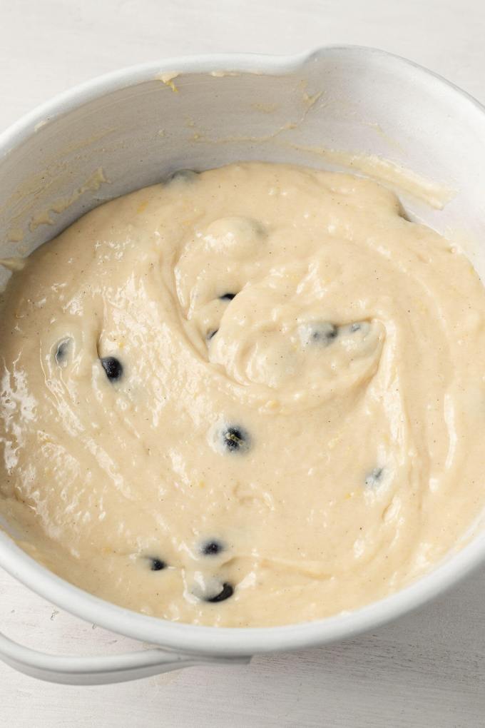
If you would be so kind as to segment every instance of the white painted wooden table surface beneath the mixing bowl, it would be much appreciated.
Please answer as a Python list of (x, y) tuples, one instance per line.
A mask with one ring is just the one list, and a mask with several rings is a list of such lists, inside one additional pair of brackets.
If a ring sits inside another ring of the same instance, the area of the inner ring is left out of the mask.
[[(191, 52), (353, 43), (422, 63), (485, 101), (484, 0), (0, 0), (0, 130), (92, 76)], [(0, 628), (64, 654), (133, 649), (0, 574)], [(485, 569), (393, 625), (251, 665), (63, 687), (0, 663), (0, 726), (475, 728), (485, 725)]]

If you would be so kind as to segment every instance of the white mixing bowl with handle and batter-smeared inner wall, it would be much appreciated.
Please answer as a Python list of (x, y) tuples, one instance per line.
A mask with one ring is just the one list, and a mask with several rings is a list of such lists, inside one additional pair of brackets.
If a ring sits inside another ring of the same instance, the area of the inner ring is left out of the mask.
[[(321, 147), (377, 154), (444, 183), (456, 191), (444, 210), (401, 195), (409, 215), (438, 232), (485, 240), (484, 108), (409, 61), (329, 47), (296, 57), (172, 58), (103, 76), (28, 114), (0, 136), (0, 256), (26, 255), (100, 202), (181, 167), (264, 159), (337, 168), (329, 164), (335, 155), (309, 150)], [(485, 247), (471, 254), (484, 277)], [(210, 628), (130, 612), (73, 587), (4, 528), (0, 566), (10, 574), (82, 619), (154, 646), (116, 657), (57, 657), (0, 636), (5, 662), (79, 684), (327, 644), (409, 612), (485, 561), (478, 534), (419, 581), (355, 612), (285, 627)]]

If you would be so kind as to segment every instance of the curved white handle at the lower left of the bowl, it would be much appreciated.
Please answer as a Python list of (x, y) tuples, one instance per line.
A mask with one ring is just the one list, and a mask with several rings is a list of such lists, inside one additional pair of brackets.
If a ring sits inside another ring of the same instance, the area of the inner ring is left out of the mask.
[(102, 685), (140, 680), (191, 665), (239, 665), (250, 657), (205, 657), (146, 649), (108, 657), (62, 657), (24, 647), (0, 633), (0, 660), (39, 680), (67, 685)]

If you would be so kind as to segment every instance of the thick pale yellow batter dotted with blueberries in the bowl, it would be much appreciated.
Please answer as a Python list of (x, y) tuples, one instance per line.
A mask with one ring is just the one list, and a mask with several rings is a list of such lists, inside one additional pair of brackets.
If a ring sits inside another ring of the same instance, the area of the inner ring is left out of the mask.
[(422, 574), (485, 505), (485, 290), (377, 183), (179, 173), (4, 299), (0, 511), (117, 604), (314, 620)]

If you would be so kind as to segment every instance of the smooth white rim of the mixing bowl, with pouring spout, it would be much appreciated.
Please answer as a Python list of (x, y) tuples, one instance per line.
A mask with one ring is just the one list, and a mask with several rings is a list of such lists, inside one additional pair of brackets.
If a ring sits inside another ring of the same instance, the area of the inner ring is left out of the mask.
[[(0, 160), (34, 135), (36, 126), (41, 122), (49, 122), (108, 92), (155, 80), (161, 74), (175, 71), (177, 74), (235, 71), (241, 74), (284, 75), (337, 52), (361, 56), (367, 61), (378, 57), (397, 73), (414, 74), (421, 81), (434, 83), (439, 92), (451, 92), (457, 102), (468, 104), (473, 112), (478, 113), (478, 121), (484, 128), (485, 136), (485, 108), (468, 92), (401, 56), (372, 47), (337, 44), (296, 55), (214, 54), (166, 58), (98, 76), (56, 95), (9, 126), (0, 134)], [(206, 627), (132, 612), (93, 596), (57, 577), (21, 550), (4, 531), (0, 531), (0, 566), (56, 606), (83, 620), (140, 641), (179, 652), (226, 657), (301, 649), (356, 636), (412, 612), (440, 596), (484, 561), (485, 535), (481, 535), (417, 581), (360, 609), (335, 614), (324, 620), (278, 627)]]

